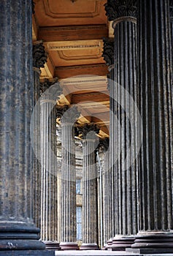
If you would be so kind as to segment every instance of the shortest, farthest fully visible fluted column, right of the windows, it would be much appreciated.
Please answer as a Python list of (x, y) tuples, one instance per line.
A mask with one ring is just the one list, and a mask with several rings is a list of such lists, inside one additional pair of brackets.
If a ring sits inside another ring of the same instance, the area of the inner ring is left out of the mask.
[(83, 170), (82, 170), (82, 246), (80, 249), (99, 249), (97, 211), (96, 135), (95, 124), (85, 124), (82, 129)]

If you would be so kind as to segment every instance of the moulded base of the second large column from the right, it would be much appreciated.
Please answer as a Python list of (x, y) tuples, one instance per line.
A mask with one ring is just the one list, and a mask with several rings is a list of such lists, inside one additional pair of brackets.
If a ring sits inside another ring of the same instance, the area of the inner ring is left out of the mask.
[(115, 236), (112, 239), (112, 245), (109, 248), (112, 251), (126, 251), (126, 248), (131, 248), (131, 245), (134, 244), (134, 236)]

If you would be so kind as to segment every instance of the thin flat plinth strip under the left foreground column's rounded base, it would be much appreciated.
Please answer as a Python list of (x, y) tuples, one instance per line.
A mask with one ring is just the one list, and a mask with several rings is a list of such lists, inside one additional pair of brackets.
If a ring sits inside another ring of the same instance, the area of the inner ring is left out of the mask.
[(54, 251), (47, 250), (23, 250), (23, 251), (0, 251), (0, 256), (55, 256)]

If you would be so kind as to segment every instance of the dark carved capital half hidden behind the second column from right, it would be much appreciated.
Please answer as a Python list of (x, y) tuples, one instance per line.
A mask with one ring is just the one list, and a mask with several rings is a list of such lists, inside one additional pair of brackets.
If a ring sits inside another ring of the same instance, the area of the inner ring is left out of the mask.
[(111, 66), (114, 64), (114, 39), (109, 39), (104, 37), (104, 49), (102, 53), (102, 57), (106, 62), (107, 66)]

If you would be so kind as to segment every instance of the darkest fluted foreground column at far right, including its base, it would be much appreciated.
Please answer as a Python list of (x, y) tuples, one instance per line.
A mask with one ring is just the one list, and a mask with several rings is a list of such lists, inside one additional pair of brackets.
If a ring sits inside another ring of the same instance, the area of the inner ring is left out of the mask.
[(173, 252), (172, 66), (168, 0), (139, 0), (139, 253)]

